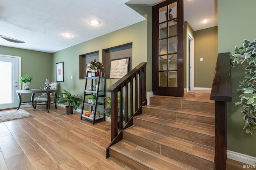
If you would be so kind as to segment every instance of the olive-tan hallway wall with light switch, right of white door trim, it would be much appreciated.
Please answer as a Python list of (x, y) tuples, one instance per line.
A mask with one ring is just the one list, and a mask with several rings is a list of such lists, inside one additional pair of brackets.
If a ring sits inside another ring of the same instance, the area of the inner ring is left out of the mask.
[(194, 86), (211, 88), (215, 70), (213, 63), (216, 63), (218, 57), (218, 27), (194, 31), (194, 39)]

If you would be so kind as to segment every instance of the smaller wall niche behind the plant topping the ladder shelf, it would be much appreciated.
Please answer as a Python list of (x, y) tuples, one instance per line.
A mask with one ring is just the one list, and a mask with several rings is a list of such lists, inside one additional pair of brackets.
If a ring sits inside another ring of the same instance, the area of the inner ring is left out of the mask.
[(85, 79), (86, 63), (97, 59), (99, 61), (99, 51), (79, 55), (79, 79)]

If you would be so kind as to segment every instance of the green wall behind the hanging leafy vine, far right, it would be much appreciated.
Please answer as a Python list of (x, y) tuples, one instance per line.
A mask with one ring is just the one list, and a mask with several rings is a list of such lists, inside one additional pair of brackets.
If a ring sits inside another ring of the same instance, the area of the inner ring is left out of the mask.
[[(255, 39), (255, 0), (218, 0), (218, 53), (230, 53), (241, 47), (243, 39)], [(245, 65), (244, 65), (245, 66)], [(227, 103), (227, 149), (256, 157), (256, 131), (246, 134), (242, 108), (234, 106), (240, 99), (236, 92), (244, 78), (244, 66), (236, 66), (232, 75), (232, 102)]]

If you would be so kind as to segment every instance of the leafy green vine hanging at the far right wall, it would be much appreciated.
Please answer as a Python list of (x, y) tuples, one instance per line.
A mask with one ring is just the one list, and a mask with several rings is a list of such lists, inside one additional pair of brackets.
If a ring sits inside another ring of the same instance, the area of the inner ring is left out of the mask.
[(235, 102), (235, 106), (243, 107), (241, 112), (246, 121), (243, 129), (252, 134), (253, 129), (256, 129), (256, 39), (252, 43), (244, 39), (243, 47), (235, 47), (235, 51), (231, 53), (232, 66), (244, 62), (248, 63), (245, 68), (246, 76), (237, 89), (243, 93), (239, 96), (240, 102)]

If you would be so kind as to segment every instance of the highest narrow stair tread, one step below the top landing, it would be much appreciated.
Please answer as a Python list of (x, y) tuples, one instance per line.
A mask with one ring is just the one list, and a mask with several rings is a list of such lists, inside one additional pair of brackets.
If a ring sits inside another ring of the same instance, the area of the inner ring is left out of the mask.
[(198, 115), (198, 116), (205, 116), (205, 117), (212, 117), (212, 118), (215, 117), (215, 115), (212, 114), (212, 113), (189, 111), (189, 110), (184, 110), (184, 109), (174, 109), (174, 108), (159, 107), (159, 106), (154, 106), (154, 105), (145, 105), (143, 107), (150, 108), (150, 109), (160, 109), (160, 110), (163, 110), (163, 111), (174, 111), (174, 112), (185, 113), (185, 114), (190, 114), (190, 115)]

